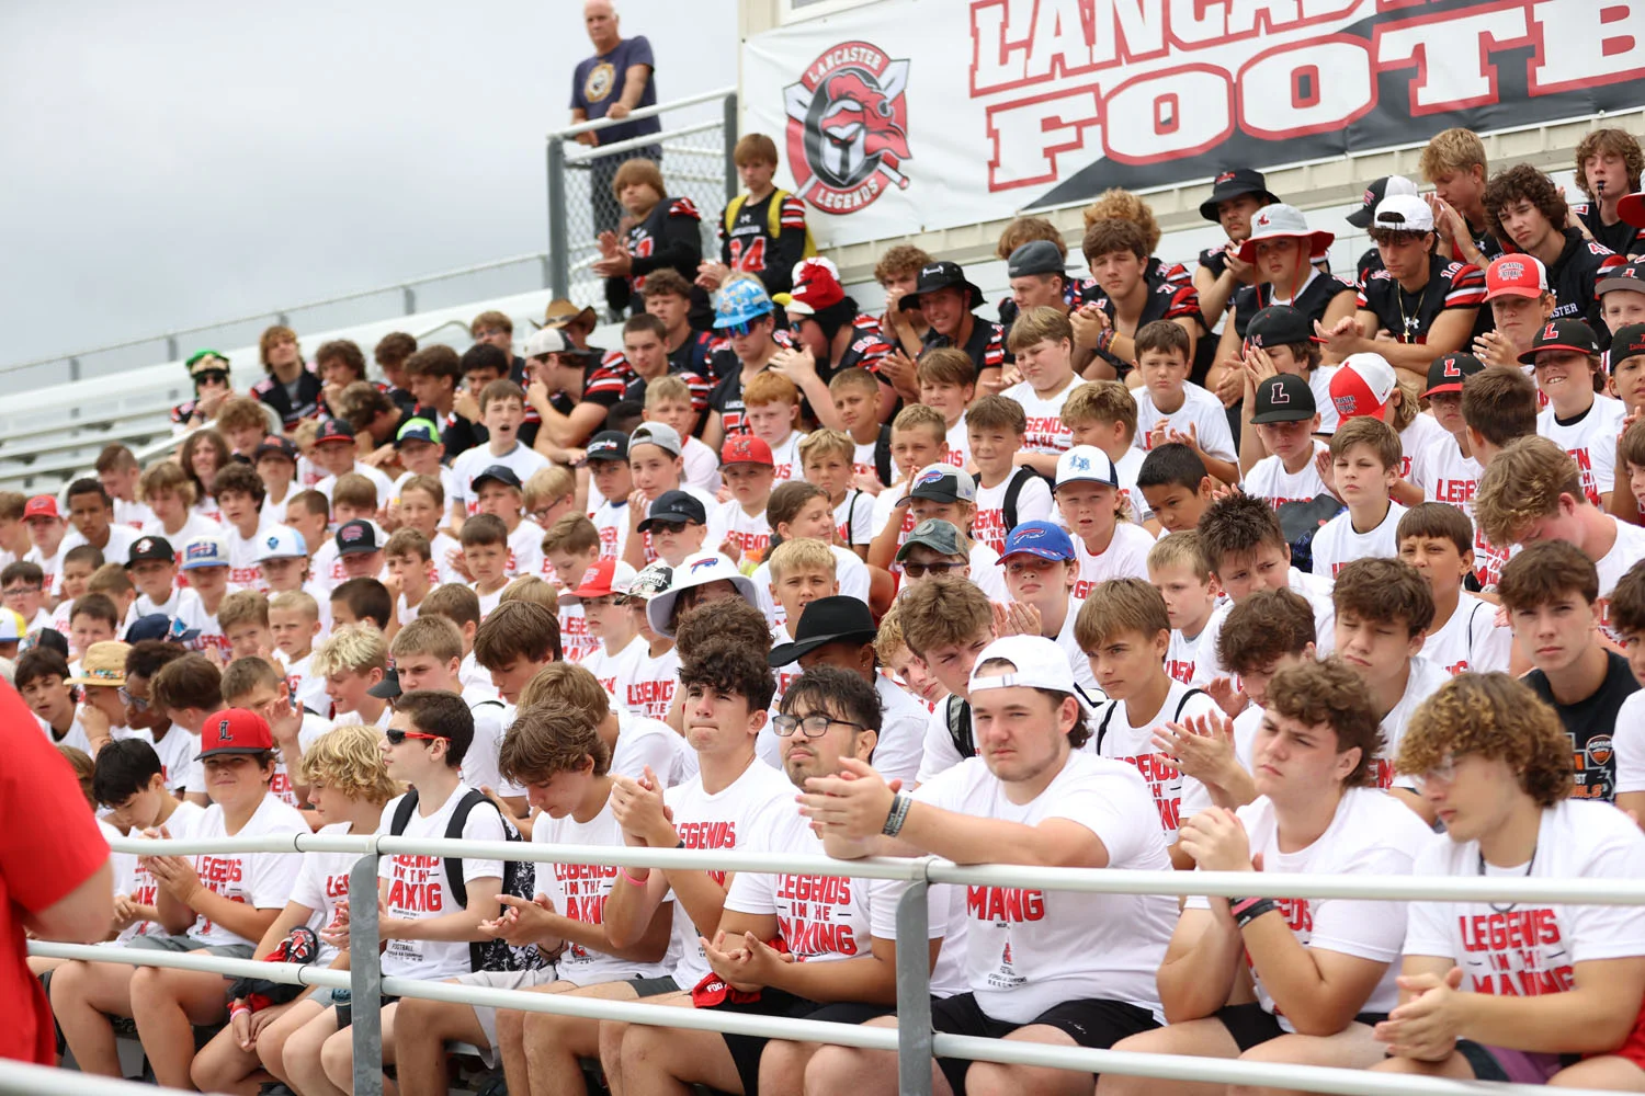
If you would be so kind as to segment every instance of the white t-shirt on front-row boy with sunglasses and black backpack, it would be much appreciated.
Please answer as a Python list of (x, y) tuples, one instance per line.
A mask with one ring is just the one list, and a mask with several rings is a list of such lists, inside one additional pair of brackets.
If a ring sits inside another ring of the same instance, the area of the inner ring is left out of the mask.
[[(451, 797), (439, 805), (439, 810), (424, 817), (421, 808), (413, 808), (401, 836), (408, 838), (444, 838), (446, 825), (464, 795), (469, 794), (466, 784), (457, 784)], [(398, 795), (383, 807), (383, 818), (377, 833), (387, 835), (393, 830), (395, 810), (400, 807)], [(475, 804), (462, 823), (464, 841), (502, 841), (503, 818), (490, 804)], [(433, 863), (429, 863), (433, 861)], [(378, 861), (378, 879), (388, 882), (388, 899), (383, 902), (388, 917), (410, 917), (423, 920), (456, 914), (451, 900), (451, 879), (446, 876), (447, 859), (444, 856), (418, 856), (400, 853), (383, 856)], [(502, 879), (503, 863), (500, 859), (462, 858), (464, 886), (472, 887), (479, 879)], [(469, 945), (466, 942), (443, 940), (390, 940), (383, 951), (383, 974), (400, 978), (452, 978), (467, 974)]]

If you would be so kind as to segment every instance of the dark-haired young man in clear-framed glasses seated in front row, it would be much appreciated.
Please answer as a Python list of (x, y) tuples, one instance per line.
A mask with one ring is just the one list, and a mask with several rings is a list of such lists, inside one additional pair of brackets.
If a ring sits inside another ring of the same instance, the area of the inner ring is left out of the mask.
[[(806, 670), (772, 720), (781, 766), (795, 789), (811, 777), (836, 777), (842, 761), (867, 766), (878, 741), (880, 700), (852, 670)], [(822, 854), (822, 838), (793, 805), (773, 812), (748, 843), (765, 853)], [(740, 873), (725, 894), (719, 930), (706, 948), (717, 981), (704, 981), (693, 1007), (755, 1015), (862, 1024), (897, 1006), (897, 881), (804, 873)], [(941, 955), (948, 933), (948, 894), (936, 897), (926, 948), (936, 958), (933, 992), (964, 988), (961, 961)], [(781, 938), (785, 951), (768, 940)], [(758, 989), (747, 1001), (747, 989)], [(653, 1093), (701, 1083), (724, 1093), (758, 1093), (760, 1078), (798, 1088), (814, 1043), (630, 1025), (623, 1035), (625, 1091)], [(834, 1091), (834, 1089), (831, 1089)]]

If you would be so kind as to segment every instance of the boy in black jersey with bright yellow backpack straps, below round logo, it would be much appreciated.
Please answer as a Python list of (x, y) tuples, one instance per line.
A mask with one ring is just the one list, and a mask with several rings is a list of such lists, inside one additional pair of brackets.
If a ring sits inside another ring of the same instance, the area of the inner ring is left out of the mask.
[(793, 289), (795, 263), (816, 255), (806, 204), (772, 184), (776, 141), (745, 133), (732, 150), (745, 192), (721, 212), (721, 258), (697, 268), (697, 284), (716, 291), (734, 271), (755, 274), (770, 294)]

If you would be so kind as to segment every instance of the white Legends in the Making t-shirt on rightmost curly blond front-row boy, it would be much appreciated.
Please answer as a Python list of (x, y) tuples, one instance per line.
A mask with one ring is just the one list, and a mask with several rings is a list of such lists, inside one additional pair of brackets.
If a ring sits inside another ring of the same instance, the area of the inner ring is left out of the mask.
[[(1495, 868), (1484, 863), (1477, 841), (1433, 836), (1411, 874), (1640, 879), (1645, 835), (1609, 804), (1563, 799), (1543, 810), (1530, 864)], [(1561, 992), (1573, 988), (1578, 963), (1645, 955), (1645, 917), (1627, 905), (1518, 902), (1499, 912), (1489, 902), (1411, 902), (1408, 917), (1405, 955), (1454, 961), (1464, 992)]]

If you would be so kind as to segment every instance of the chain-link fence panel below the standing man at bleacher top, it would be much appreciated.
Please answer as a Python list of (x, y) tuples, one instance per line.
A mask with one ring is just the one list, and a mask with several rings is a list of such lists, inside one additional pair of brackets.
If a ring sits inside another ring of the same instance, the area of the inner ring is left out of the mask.
[[(658, 133), (650, 145), (623, 141), (610, 150), (584, 150), (568, 143), (563, 187), (566, 296), (574, 304), (592, 304), (605, 314), (605, 283), (594, 273), (594, 263), (600, 256), (600, 232), (622, 235), (630, 223), (612, 192), (617, 168), (627, 159), (653, 159), (663, 171), (666, 197), (689, 197), (696, 204), (702, 214), (702, 258), (719, 258), (721, 215), (734, 192), (727, 181), (735, 177), (729, 168), (735, 141), (735, 133), (727, 135), (724, 122), (704, 122)], [(556, 212), (549, 210), (549, 217)]]

